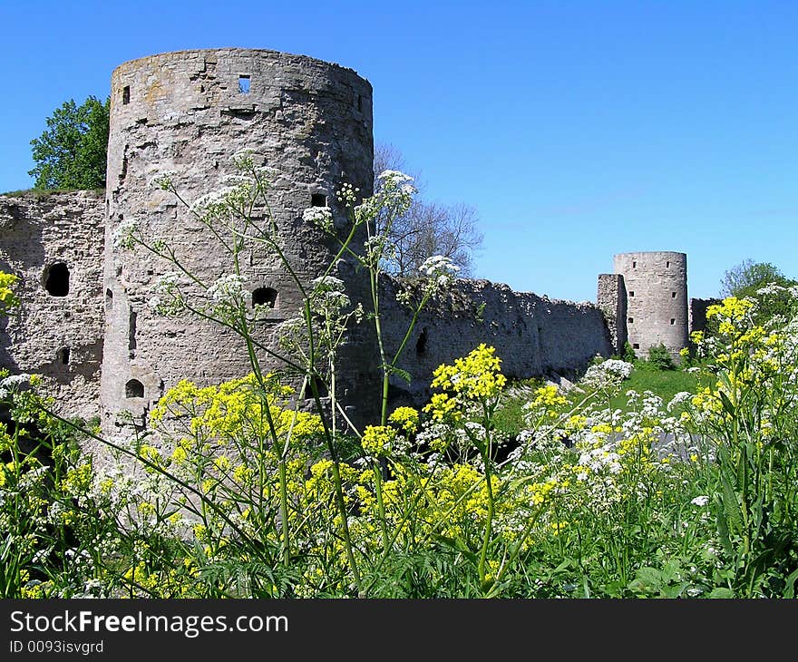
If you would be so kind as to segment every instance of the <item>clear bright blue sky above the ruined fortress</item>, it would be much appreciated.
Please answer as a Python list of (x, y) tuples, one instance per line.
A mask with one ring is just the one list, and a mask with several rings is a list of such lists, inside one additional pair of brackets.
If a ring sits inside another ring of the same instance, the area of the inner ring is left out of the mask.
[(146, 55), (306, 54), (374, 86), (375, 141), (474, 207), (477, 276), (595, 300), (614, 253), (687, 253), (690, 297), (745, 258), (798, 277), (794, 0), (0, 0), (0, 191), (64, 101)]

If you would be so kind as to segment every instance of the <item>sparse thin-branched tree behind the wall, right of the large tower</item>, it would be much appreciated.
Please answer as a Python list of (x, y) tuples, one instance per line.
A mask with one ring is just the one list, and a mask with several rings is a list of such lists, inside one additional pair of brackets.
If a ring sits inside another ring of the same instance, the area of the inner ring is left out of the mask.
[[(383, 170), (402, 170), (404, 157), (393, 145), (375, 147), (375, 177)], [(473, 255), (482, 248), (482, 233), (477, 228), (476, 209), (458, 203), (451, 206), (421, 199), (423, 184), (417, 174), (414, 186), (418, 196), (402, 216), (393, 219), (388, 238), (394, 244), (394, 258), (386, 263), (387, 271), (396, 276), (417, 275), (426, 258), (443, 255), (460, 267), (460, 275), (473, 276)]]

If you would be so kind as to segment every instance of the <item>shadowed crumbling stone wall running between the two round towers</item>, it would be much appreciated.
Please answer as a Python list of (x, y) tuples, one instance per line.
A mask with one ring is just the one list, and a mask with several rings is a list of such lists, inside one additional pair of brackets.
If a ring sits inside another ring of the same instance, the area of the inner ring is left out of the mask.
[[(405, 281), (385, 278), (384, 336), (390, 352), (400, 346), (411, 321), (411, 311), (396, 301)], [(399, 361), (412, 375), (410, 384), (391, 379), (392, 404), (425, 403), (433, 371), (452, 363), (474, 347), (496, 347), (501, 371), (508, 378), (578, 375), (596, 355), (613, 353), (601, 309), (514, 292), (501, 283), (458, 279), (452, 291), (434, 298), (418, 318), (414, 334)]]

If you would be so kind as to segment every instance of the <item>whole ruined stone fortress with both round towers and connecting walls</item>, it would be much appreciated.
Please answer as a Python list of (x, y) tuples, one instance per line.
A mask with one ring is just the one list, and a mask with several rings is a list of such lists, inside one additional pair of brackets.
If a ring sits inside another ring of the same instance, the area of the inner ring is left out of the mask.
[[(55, 383), (63, 414), (102, 414), (106, 430), (125, 411), (143, 423), (152, 404), (182, 378), (208, 385), (248, 373), (238, 336), (151, 311), (158, 279), (173, 268), (141, 248), (116, 246), (114, 234), (135, 221), (148, 237), (168, 239), (207, 283), (229, 273), (207, 229), (151, 180), (171, 171), (186, 200), (196, 200), (233, 173), (233, 154), (252, 149), (270, 169), (269, 202), (287, 258), (309, 282), (334, 253), (302, 212), (327, 206), (343, 229), (335, 191), (349, 182), (370, 194), (371, 104), (365, 79), (301, 55), (219, 49), (123, 63), (112, 73), (105, 200), (82, 191), (0, 196), (0, 268), (22, 278), (24, 301), (22, 316), (0, 327), (2, 365), (43, 373)], [(265, 218), (266, 210), (257, 215)], [(258, 330), (269, 346), (301, 296), (274, 252), (264, 248), (243, 258), (245, 287), (271, 305)], [(65, 297), (47, 287), (56, 263), (70, 274)], [(400, 362), (412, 380), (392, 382), (393, 404), (423, 404), (434, 368), (482, 342), (496, 346), (503, 371), (517, 378), (578, 374), (595, 355), (617, 354), (627, 335), (640, 353), (660, 341), (676, 351), (686, 346), (686, 256), (621, 254), (615, 271), (599, 275), (596, 304), (459, 279), (419, 318)], [(339, 262), (336, 275), (354, 301), (366, 300), (365, 275), (353, 264)], [(401, 283), (383, 283), (390, 349), (401, 343), (410, 318), (395, 300)], [(367, 321), (353, 330), (340, 363), (339, 394), (359, 413), (355, 421), (367, 422), (380, 375)]]

